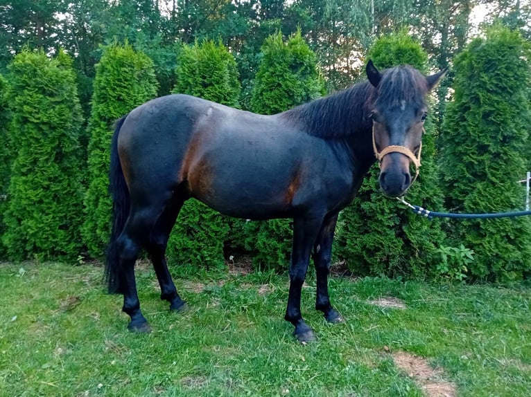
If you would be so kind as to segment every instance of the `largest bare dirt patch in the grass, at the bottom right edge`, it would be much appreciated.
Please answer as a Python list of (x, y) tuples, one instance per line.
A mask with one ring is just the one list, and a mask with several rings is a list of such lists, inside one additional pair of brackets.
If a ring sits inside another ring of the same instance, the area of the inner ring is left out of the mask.
[(444, 380), (440, 368), (432, 368), (428, 360), (405, 351), (392, 354), (394, 364), (417, 382), (428, 397), (457, 397), (457, 389), (452, 382)]

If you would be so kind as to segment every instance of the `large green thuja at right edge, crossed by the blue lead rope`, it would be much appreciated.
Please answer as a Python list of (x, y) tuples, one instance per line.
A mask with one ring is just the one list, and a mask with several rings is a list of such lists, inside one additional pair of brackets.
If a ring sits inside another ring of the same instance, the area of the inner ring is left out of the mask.
[[(530, 142), (530, 50), (519, 33), (494, 26), (455, 58), (453, 100), (442, 126), (447, 207), (503, 212), (523, 207)], [(473, 277), (521, 279), (531, 269), (531, 219), (461, 221), (451, 239), (476, 252)]]

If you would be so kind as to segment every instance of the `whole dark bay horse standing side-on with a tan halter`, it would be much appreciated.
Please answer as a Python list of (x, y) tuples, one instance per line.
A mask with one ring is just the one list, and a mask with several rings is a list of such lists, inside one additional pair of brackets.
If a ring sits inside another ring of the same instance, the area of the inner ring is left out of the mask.
[(142, 248), (153, 261), (161, 299), (172, 310), (184, 308), (164, 254), (177, 214), (191, 197), (243, 219), (293, 218), (285, 318), (298, 340), (315, 338), (300, 310), (312, 255), (315, 308), (329, 322), (342, 322), (328, 293), (338, 214), (354, 199), (375, 155), (383, 193), (406, 192), (410, 163), (419, 163), (425, 97), (444, 75), (424, 77), (410, 66), (380, 73), (370, 61), (366, 73), (368, 81), (274, 116), (168, 95), (117, 122), (110, 170), (113, 228), (105, 265), (110, 292), (123, 294), (130, 330), (150, 331), (134, 279)]

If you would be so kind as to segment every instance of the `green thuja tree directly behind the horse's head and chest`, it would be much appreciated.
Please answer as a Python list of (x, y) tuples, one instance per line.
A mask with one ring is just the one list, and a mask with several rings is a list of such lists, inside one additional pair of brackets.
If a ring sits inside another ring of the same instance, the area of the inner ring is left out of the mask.
[[(378, 68), (410, 64), (426, 73), (428, 56), (415, 39), (402, 31), (377, 39), (369, 50)], [(429, 120), (422, 140), (421, 169), (407, 199), (430, 209), (442, 205), (434, 161), (435, 131)], [(343, 210), (338, 222), (336, 258), (344, 260), (358, 275), (405, 275), (430, 273), (437, 249), (444, 238), (440, 223), (412, 214), (396, 200), (381, 193), (378, 165), (369, 170), (354, 202)]]

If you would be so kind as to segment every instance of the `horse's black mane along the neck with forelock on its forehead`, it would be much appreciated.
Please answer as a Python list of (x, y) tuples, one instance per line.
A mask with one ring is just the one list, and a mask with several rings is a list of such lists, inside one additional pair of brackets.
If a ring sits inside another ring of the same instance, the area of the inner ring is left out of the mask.
[[(349, 89), (299, 105), (281, 113), (285, 120), (304, 124), (304, 130), (320, 138), (345, 138), (370, 129), (369, 114), (378, 107), (425, 106), (428, 86), (424, 76), (411, 66), (396, 66), (382, 72), (378, 89), (359, 82)], [(404, 102), (405, 101), (405, 102)]]

